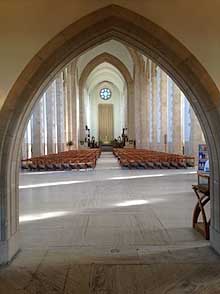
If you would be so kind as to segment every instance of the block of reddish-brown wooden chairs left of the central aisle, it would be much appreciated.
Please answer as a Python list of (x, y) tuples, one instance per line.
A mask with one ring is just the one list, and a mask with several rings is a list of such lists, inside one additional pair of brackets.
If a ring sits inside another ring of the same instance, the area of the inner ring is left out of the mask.
[(100, 154), (100, 149), (70, 150), (24, 159), (21, 168), (29, 171), (94, 169)]

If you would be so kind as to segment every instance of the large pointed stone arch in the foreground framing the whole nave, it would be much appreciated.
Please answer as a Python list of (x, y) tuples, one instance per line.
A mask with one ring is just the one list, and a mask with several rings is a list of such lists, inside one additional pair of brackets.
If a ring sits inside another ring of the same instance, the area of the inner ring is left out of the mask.
[(26, 66), (1, 109), (0, 263), (8, 262), (19, 249), (19, 155), (30, 111), (57, 71), (109, 39), (125, 42), (147, 55), (190, 98), (209, 145), (211, 244), (220, 252), (220, 93), (206, 70), (178, 40), (146, 18), (111, 5), (83, 17), (47, 43)]

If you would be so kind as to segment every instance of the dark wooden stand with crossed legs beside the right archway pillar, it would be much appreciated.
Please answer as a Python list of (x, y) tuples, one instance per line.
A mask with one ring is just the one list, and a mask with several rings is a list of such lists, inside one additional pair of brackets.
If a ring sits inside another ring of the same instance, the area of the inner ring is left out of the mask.
[[(209, 240), (210, 219), (207, 220), (205, 206), (210, 201), (210, 175), (198, 172), (198, 185), (192, 186), (197, 203), (193, 211), (193, 228), (200, 232), (206, 240)], [(201, 220), (199, 221), (199, 217)]]

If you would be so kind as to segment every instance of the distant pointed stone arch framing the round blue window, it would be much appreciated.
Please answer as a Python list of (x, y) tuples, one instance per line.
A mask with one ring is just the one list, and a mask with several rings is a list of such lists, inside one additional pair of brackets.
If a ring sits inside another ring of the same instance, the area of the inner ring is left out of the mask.
[[(134, 125), (134, 112), (129, 111), (129, 109), (133, 109), (133, 93), (134, 93), (134, 83), (133, 79), (131, 77), (131, 74), (127, 67), (121, 62), (120, 59), (115, 57), (112, 54), (109, 54), (107, 52), (101, 53), (94, 57), (83, 69), (80, 79), (79, 79), (79, 109), (80, 109), (80, 122), (79, 122), (79, 129), (82, 131), (85, 126), (85, 118), (84, 118), (84, 103), (83, 103), (83, 89), (85, 87), (86, 81), (90, 75), (90, 73), (100, 64), (107, 62), (111, 65), (113, 65), (117, 70), (121, 73), (121, 75), (124, 77), (127, 90), (128, 90), (128, 134), (130, 138), (134, 138), (134, 129), (132, 128), (132, 125)], [(84, 134), (82, 133), (80, 135), (80, 138), (84, 138)]]

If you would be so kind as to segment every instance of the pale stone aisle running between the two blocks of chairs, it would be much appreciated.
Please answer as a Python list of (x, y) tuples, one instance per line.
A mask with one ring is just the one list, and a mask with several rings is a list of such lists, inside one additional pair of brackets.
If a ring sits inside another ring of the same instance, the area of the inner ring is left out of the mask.
[(112, 152), (102, 152), (100, 158), (97, 160), (96, 170), (120, 168), (118, 160)]

